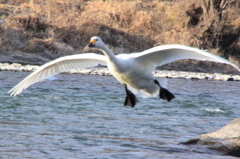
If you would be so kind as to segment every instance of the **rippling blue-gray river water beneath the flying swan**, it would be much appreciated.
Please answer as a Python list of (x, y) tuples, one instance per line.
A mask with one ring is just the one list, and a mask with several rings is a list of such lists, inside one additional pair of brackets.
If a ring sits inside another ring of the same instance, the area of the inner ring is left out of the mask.
[(240, 82), (168, 79), (176, 99), (132, 109), (110, 76), (60, 74), (9, 96), (28, 74), (0, 72), (0, 158), (234, 158), (179, 142), (239, 117)]

